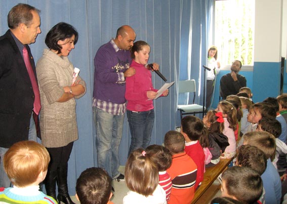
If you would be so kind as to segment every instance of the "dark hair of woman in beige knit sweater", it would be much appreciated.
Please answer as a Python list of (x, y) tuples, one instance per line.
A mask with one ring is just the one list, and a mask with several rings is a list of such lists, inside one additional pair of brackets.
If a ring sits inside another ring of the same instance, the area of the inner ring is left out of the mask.
[(75, 35), (74, 45), (76, 45), (78, 41), (78, 32), (76, 29), (68, 23), (60, 22), (48, 32), (45, 44), (49, 49), (58, 51), (58, 54), (60, 54), (62, 46), (58, 45), (58, 41), (71, 38), (73, 35)]

